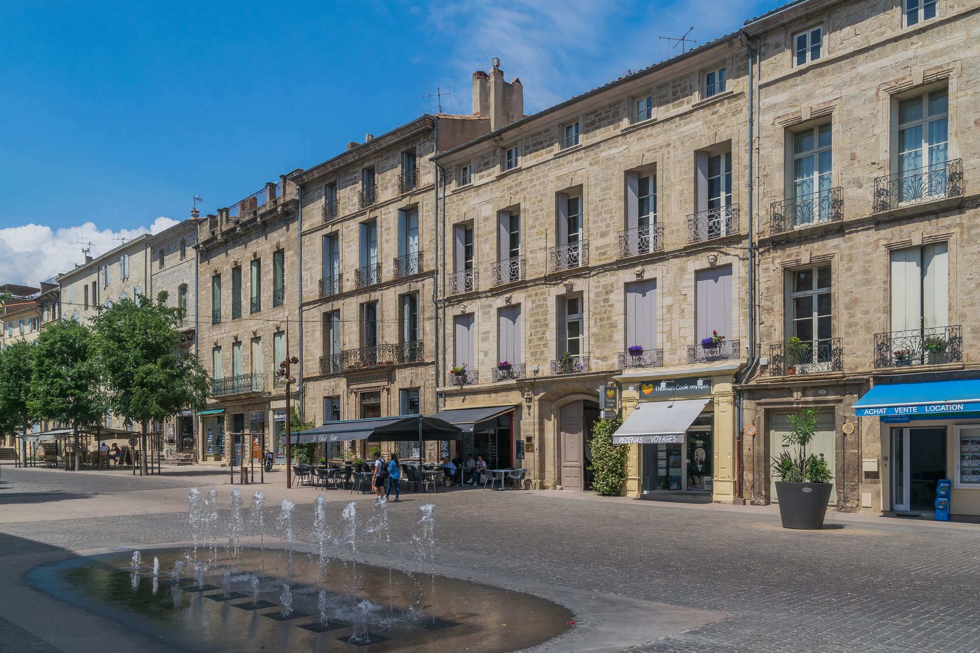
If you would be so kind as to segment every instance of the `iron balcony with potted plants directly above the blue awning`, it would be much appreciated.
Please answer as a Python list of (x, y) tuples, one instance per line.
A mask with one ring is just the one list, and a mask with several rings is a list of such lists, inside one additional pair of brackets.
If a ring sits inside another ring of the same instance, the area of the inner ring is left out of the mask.
[(874, 366), (941, 365), (963, 360), (959, 324), (874, 334)]

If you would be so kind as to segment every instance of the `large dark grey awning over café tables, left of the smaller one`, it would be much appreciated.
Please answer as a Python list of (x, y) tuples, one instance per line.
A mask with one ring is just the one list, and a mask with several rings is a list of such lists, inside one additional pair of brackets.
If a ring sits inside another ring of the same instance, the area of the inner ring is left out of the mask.
[(349, 440), (375, 443), (418, 440), (419, 426), (421, 440), (459, 440), (462, 437), (459, 427), (436, 417), (399, 415), (326, 422), (315, 429), (290, 434), (290, 441), (293, 444), (310, 444), (342, 443)]

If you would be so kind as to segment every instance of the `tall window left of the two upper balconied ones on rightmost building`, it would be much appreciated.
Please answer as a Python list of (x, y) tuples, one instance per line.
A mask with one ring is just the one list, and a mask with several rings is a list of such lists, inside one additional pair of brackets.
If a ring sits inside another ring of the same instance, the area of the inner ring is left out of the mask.
[(793, 134), (792, 226), (830, 219), (832, 206), (826, 198), (832, 184), (831, 125), (829, 122)]

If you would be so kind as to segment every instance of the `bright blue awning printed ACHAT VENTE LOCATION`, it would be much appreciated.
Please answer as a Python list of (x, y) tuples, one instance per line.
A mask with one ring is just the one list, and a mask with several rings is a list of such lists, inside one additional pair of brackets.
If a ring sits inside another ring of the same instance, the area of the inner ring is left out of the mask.
[(980, 410), (980, 379), (875, 386), (855, 402), (858, 417), (931, 415)]

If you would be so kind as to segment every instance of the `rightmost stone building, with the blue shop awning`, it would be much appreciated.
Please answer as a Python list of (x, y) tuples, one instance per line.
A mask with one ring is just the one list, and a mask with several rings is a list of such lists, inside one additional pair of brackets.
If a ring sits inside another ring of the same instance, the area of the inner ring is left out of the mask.
[(952, 512), (980, 514), (980, 413), (962, 401), (980, 336), (978, 30), (980, 3), (913, 0), (810, 0), (744, 28), (763, 217), (747, 499), (775, 499), (772, 456), (809, 406), (832, 502), (931, 513), (951, 479)]

